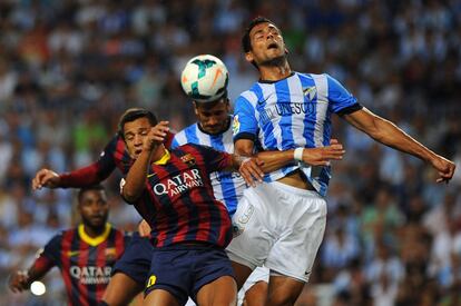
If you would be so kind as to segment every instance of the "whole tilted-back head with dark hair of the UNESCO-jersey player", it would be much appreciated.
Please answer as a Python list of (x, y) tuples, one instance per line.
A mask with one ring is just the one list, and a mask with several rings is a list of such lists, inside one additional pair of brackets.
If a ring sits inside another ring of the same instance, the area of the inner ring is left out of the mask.
[(282, 31), (264, 17), (257, 17), (249, 22), (242, 37), (242, 48), (245, 59), (256, 68), (283, 62), (288, 53)]

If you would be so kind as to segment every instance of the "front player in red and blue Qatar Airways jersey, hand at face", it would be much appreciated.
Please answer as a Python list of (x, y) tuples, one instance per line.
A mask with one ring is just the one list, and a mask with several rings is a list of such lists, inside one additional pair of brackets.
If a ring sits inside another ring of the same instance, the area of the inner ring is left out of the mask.
[[(146, 304), (184, 305), (190, 296), (199, 305), (235, 304), (236, 284), (224, 248), (232, 224), (223, 203), (214, 197), (209, 174), (237, 169), (261, 178), (254, 159), (210, 147), (185, 145), (167, 150), (166, 121), (151, 128), (145, 118), (121, 118), (128, 151), (136, 159), (121, 194), (151, 227), (155, 246)], [(146, 135), (147, 131), (147, 135)]]

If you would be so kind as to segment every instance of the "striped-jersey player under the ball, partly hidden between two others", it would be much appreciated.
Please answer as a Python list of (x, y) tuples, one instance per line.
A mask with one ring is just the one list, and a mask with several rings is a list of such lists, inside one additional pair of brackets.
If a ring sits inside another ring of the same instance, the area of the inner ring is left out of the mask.
[[(223, 96), (213, 101), (193, 101), (197, 122), (186, 127), (175, 135), (171, 148), (185, 144), (197, 144), (209, 146), (229, 154), (234, 152), (233, 141), (233, 116), (227, 98), (227, 90)], [(344, 152), (339, 144), (325, 147), (325, 150), (306, 150), (304, 161), (313, 165), (324, 164), (326, 160), (340, 159)], [(293, 164), (293, 152), (276, 151), (261, 152), (258, 157), (265, 161), (265, 167), (277, 169), (287, 164)], [(237, 203), (242, 198), (244, 189), (247, 188), (244, 179), (238, 172), (213, 172), (212, 185), (216, 199), (223, 201), (230, 216), (234, 215)], [(239, 292), (239, 304), (244, 295), (248, 306), (265, 305), (267, 293), (268, 270), (258, 268), (248, 278), (243, 290)]]

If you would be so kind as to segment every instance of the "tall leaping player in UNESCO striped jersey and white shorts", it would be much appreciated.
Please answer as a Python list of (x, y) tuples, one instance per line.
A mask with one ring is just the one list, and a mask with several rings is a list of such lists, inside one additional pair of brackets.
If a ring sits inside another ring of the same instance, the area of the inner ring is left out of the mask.
[(306, 148), (330, 145), (334, 113), (376, 141), (426, 161), (439, 171), (438, 181), (452, 178), (454, 164), (363, 108), (328, 75), (292, 71), (282, 32), (272, 21), (253, 20), (242, 42), (259, 81), (236, 100), (235, 150), (252, 156), (255, 144), (264, 150), (295, 149), (300, 162), (272, 171), (266, 182), (245, 190), (234, 215), (234, 224), (244, 230), (227, 250), (238, 286), (264, 263), (271, 269), (267, 305), (293, 305), (323, 239), (331, 177), (330, 166), (311, 167), (300, 156)]

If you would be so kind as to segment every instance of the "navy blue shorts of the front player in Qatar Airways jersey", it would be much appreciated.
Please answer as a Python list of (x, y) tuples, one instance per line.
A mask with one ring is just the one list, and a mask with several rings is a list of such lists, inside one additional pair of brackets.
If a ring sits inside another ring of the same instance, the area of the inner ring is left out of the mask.
[(179, 305), (185, 305), (188, 296), (197, 302), (198, 290), (222, 276), (235, 277), (222, 248), (180, 244), (154, 248), (145, 295), (164, 289), (173, 294)]

